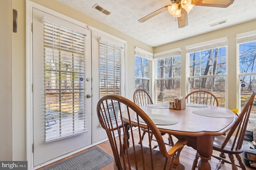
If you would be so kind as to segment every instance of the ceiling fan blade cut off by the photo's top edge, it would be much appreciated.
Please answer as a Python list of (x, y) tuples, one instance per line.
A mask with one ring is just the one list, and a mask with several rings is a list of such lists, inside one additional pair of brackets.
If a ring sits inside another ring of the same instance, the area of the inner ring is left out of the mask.
[[(192, 0), (193, 2), (193, 0)], [(211, 6), (218, 8), (227, 8), (233, 4), (234, 0), (195, 0), (194, 4), (198, 6)]]

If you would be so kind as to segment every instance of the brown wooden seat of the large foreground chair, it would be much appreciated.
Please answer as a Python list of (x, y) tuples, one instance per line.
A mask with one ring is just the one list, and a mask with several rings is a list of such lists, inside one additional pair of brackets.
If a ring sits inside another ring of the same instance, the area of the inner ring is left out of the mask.
[[(129, 160), (130, 160), (130, 166), (131, 169), (134, 170), (136, 169), (136, 158), (135, 155), (133, 154), (133, 147), (128, 148), (128, 154), (126, 153), (124, 155), (124, 160), (123, 158), (120, 158), (122, 165), (123, 161), (127, 162), (128, 161), (128, 155), (129, 155)], [(146, 170), (151, 170), (151, 160), (150, 160), (150, 148), (143, 146), (143, 151), (144, 151), (144, 156), (142, 156), (142, 150), (141, 150), (141, 146), (140, 144), (137, 144), (135, 146), (135, 150), (136, 150), (136, 157), (137, 158), (141, 158), (138, 162), (138, 170), (142, 170), (143, 169), (143, 158), (145, 160), (145, 164), (146, 164)], [(153, 155), (153, 164), (154, 164), (154, 170), (163, 170), (164, 169), (164, 164), (165, 164), (165, 160), (166, 158), (164, 156), (162, 156), (161, 152), (159, 150), (151, 150), (152, 151), (152, 155)], [(168, 160), (168, 164), (170, 164), (172, 158), (169, 158)], [(167, 167), (169, 168), (169, 167)], [(116, 166), (116, 163), (114, 162), (114, 169), (118, 170), (118, 167)], [(122, 168), (124, 169), (124, 168)], [(126, 164), (126, 169), (129, 169), (128, 164)], [(179, 164), (177, 167), (177, 170), (185, 170), (185, 166), (183, 164)]]

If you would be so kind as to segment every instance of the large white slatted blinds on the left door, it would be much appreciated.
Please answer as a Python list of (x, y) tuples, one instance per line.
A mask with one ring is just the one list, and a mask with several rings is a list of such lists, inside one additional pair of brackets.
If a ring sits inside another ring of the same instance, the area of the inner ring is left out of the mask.
[(86, 132), (85, 37), (44, 21), (45, 140)]

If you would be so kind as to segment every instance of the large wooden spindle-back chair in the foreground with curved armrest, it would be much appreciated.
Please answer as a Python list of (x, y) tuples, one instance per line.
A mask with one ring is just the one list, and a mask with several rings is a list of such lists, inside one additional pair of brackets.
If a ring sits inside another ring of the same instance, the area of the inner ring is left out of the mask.
[[(116, 103), (118, 104), (117, 111)], [(111, 110), (109, 107), (112, 107)], [(125, 114), (128, 119), (124, 119)], [(101, 126), (108, 135), (114, 154), (115, 170), (184, 170), (185, 167), (180, 163), (179, 156), (186, 140), (178, 140), (167, 151), (156, 125), (132, 101), (118, 95), (106, 95), (98, 101), (97, 115)], [(143, 120), (144, 123), (141, 123), (140, 120)], [(147, 140), (144, 136), (142, 141), (141, 128), (148, 129), (154, 134), (159, 150), (152, 149), (151, 144), (148, 145), (152, 142), (150, 135), (146, 135), (148, 136)], [(140, 144), (138, 144), (138, 140)]]

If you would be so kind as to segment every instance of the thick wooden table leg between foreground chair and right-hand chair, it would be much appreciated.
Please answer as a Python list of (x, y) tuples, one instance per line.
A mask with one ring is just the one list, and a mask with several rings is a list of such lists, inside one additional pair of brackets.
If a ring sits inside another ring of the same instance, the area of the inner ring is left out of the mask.
[(198, 162), (198, 170), (211, 170), (208, 162), (212, 156), (214, 136), (198, 136), (196, 140), (198, 156), (201, 158)]

